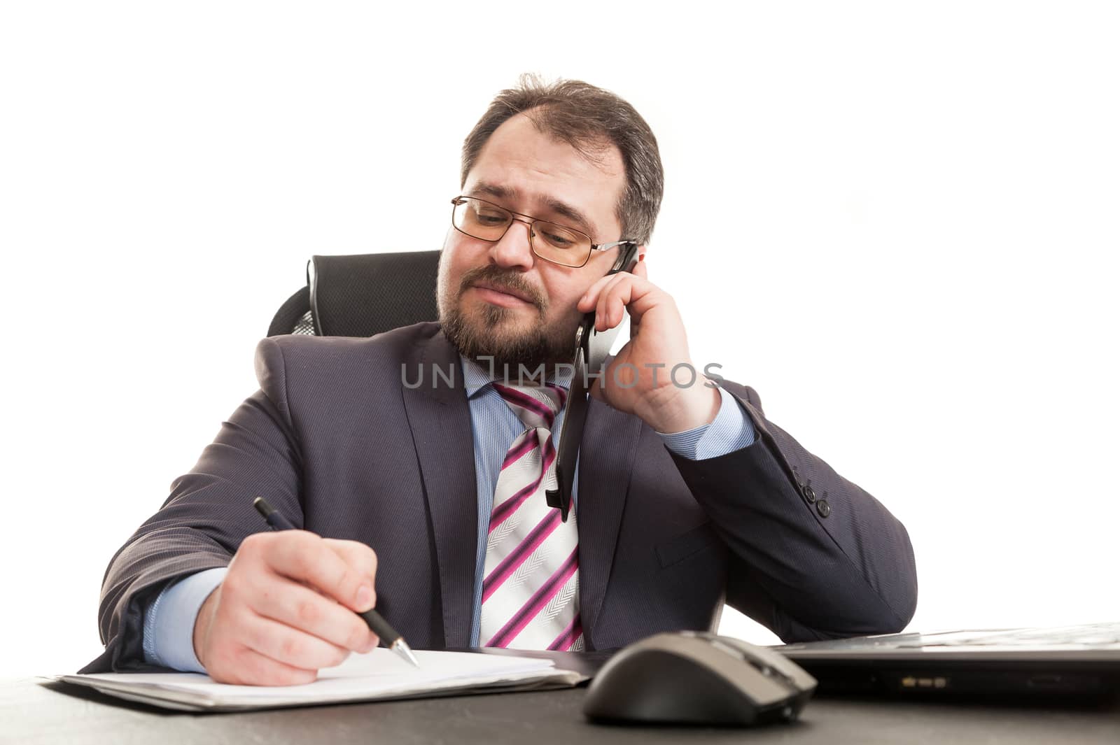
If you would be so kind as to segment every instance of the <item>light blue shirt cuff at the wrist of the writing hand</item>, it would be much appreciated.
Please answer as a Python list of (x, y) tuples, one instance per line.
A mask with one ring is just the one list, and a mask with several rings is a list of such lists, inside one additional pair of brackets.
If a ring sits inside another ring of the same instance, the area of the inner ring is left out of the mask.
[(143, 614), (143, 659), (184, 672), (206, 672), (195, 656), (195, 619), (228, 567), (198, 572), (164, 588)]

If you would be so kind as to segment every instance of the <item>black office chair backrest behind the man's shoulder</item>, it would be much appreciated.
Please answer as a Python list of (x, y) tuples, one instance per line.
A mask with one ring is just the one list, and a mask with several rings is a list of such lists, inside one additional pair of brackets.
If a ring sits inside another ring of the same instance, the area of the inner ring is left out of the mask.
[(436, 321), (438, 251), (312, 256), (307, 286), (277, 311), (269, 336), (372, 337)]

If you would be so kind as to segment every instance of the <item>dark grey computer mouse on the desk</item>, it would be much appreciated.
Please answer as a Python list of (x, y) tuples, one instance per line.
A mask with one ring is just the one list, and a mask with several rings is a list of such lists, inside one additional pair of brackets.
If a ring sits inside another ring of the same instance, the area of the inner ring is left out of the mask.
[(584, 714), (595, 722), (790, 722), (815, 689), (815, 678), (773, 650), (680, 631), (643, 639), (610, 658), (591, 681)]

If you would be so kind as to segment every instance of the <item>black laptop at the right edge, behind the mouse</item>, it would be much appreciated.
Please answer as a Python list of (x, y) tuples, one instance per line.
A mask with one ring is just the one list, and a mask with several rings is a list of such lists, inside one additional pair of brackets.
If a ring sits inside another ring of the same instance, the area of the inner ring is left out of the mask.
[(1120, 691), (1120, 623), (977, 629), (785, 644), (821, 691), (905, 696)]

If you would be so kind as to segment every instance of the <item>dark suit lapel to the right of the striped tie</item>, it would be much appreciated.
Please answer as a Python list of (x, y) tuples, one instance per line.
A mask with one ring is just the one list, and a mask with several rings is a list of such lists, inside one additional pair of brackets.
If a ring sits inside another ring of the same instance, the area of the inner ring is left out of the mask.
[(642, 421), (591, 399), (579, 447), (579, 604), (588, 641), (610, 578)]

